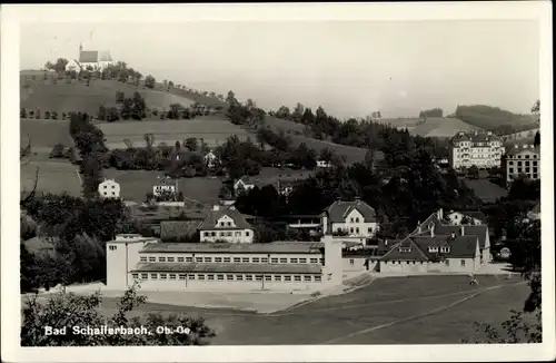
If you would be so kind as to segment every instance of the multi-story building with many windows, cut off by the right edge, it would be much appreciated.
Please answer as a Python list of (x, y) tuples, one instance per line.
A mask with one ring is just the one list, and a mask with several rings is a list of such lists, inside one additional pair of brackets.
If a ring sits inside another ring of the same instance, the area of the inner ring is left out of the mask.
[(529, 179), (540, 179), (540, 149), (533, 145), (514, 145), (503, 157), (506, 185), (524, 175)]

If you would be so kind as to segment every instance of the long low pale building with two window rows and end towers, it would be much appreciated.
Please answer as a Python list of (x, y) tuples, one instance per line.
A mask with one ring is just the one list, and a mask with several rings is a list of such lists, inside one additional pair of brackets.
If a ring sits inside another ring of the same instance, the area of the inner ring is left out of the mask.
[(320, 242), (268, 244), (107, 243), (107, 286), (145, 291), (320, 291), (342, 282), (341, 246)]

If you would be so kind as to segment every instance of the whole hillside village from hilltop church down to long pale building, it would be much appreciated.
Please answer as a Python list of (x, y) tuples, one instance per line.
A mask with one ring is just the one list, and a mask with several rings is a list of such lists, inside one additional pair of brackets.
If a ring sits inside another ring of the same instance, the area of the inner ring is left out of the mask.
[(496, 126), (489, 112), (506, 111), (483, 106), (476, 119), (471, 106), (405, 120), (264, 110), (82, 47), (22, 71), (21, 92), (23, 293), (477, 286), (514, 278), (539, 228), (539, 108)]

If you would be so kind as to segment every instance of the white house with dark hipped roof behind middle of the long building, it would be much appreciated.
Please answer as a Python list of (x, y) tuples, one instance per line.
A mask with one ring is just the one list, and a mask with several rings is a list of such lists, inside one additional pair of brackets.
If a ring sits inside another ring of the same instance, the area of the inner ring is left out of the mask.
[(201, 242), (226, 241), (229, 243), (252, 243), (254, 230), (246, 217), (234, 207), (215, 205), (199, 224)]

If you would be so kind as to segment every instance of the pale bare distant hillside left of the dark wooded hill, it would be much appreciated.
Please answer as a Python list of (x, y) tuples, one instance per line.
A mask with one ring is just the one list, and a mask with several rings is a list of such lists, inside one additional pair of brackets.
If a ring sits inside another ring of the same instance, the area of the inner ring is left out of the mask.
[(453, 137), (458, 131), (470, 131), (479, 127), (450, 117), (428, 117), (424, 122), (419, 118), (384, 118), (378, 122), (396, 128), (407, 128), (410, 135), (423, 137)]

